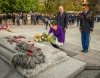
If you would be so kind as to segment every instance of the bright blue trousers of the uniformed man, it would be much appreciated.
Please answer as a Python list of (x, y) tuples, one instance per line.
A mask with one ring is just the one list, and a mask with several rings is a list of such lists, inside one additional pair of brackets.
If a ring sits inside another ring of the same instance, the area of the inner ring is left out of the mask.
[(88, 50), (90, 33), (81, 33), (81, 42), (83, 50)]

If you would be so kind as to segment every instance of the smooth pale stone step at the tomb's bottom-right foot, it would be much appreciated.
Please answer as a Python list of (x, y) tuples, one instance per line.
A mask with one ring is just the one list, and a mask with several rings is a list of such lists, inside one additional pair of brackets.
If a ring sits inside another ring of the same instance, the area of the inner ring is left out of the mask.
[(70, 57), (67, 61), (40, 73), (36, 78), (74, 78), (84, 70), (85, 66), (86, 63)]

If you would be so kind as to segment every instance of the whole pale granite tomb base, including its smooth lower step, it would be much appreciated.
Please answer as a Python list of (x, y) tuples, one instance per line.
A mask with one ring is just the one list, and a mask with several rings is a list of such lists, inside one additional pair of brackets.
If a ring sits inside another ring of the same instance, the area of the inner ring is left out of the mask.
[[(5, 36), (7, 35), (9, 34)], [(14, 33), (12, 35), (14, 35)], [(27, 42), (29, 39), (23, 40)], [(83, 71), (86, 66), (86, 63), (73, 59), (67, 56), (65, 52), (55, 49), (52, 46), (33, 42), (33, 40), (31, 40), (30, 44), (32, 43), (34, 43), (36, 47), (42, 49), (45, 55), (45, 63), (37, 64), (34, 69), (17, 67), (17, 70), (27, 78), (73, 78)], [(0, 45), (4, 46), (0, 46), (0, 55), (6, 58), (10, 63), (13, 55), (18, 53), (18, 51), (15, 50), (16, 44), (9, 44), (7, 40), (1, 36)]]

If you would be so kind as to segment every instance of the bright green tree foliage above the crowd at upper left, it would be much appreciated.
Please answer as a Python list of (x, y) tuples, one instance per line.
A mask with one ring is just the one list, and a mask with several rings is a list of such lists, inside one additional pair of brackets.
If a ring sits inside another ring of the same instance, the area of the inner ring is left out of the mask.
[(0, 0), (0, 12), (36, 12), (38, 0)]

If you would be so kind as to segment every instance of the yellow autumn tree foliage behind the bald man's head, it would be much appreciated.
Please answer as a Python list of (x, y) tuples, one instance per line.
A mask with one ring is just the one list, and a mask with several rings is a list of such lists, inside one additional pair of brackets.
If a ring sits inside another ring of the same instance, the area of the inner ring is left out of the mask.
[[(81, 10), (81, 0), (43, 0), (38, 11), (42, 13), (55, 14), (58, 12), (58, 7), (60, 5), (64, 7), (65, 12)], [(76, 9), (75, 5), (77, 5)]]

